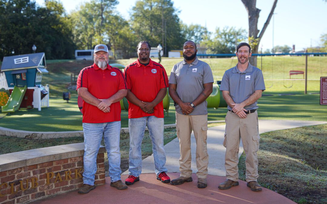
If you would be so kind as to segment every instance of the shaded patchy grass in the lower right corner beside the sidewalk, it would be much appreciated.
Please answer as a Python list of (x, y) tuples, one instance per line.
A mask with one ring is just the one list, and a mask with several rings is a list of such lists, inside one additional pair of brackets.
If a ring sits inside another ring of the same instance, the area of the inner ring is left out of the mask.
[[(327, 124), (260, 134), (258, 182), (297, 203), (327, 203)], [(245, 153), (238, 164), (245, 180)]]

